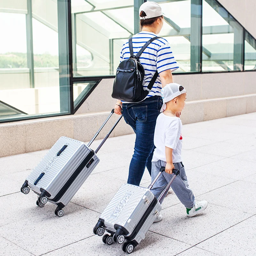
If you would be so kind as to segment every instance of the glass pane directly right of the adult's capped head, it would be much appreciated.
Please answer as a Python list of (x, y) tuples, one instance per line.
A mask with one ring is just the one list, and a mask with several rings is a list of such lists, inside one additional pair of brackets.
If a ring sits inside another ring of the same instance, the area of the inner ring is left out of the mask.
[[(199, 72), (202, 8), (200, 1), (161, 1), (159, 5), (168, 17), (165, 18), (159, 36), (170, 43), (175, 60), (180, 67), (174, 72)], [(182, 10), (182, 12), (173, 12), (173, 10)], [(193, 31), (193, 34), (190, 31)], [(192, 52), (191, 49), (193, 49)]]

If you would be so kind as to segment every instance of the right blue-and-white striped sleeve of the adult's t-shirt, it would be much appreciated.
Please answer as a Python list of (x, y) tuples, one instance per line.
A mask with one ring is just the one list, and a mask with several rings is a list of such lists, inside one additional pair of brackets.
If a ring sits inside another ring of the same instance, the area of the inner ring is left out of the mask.
[(173, 72), (179, 68), (176, 60), (174, 59), (172, 49), (169, 43), (162, 45), (156, 53), (156, 68), (158, 73), (171, 69)]

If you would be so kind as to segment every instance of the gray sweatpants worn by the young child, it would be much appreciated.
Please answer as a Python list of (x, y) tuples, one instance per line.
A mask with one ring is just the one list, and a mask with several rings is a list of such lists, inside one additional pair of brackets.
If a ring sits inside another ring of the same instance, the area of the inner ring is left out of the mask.
[[(160, 168), (165, 166), (166, 162), (158, 160), (157, 162), (152, 162), (152, 169), (151, 169), (151, 179), (152, 181), (156, 178)], [(181, 163), (173, 163), (175, 169), (180, 170), (180, 174), (173, 180), (172, 182), (172, 189), (176, 196), (179, 198), (180, 202), (185, 205), (187, 208), (192, 208), (195, 205), (195, 196), (193, 195), (192, 190), (188, 186), (188, 180), (185, 172), (184, 165)], [(159, 178), (157, 179), (156, 183), (154, 184), (151, 192), (158, 198), (164, 187), (168, 184), (171, 180), (173, 174), (169, 174), (167, 172), (163, 172)]]

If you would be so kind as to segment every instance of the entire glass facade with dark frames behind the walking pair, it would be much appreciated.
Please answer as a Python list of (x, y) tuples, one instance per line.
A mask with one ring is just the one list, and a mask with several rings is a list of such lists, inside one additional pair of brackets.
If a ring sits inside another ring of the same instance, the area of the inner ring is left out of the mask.
[[(145, 1), (0, 1), (0, 122), (74, 114), (114, 77)], [(255, 38), (217, 1), (155, 2), (168, 16), (159, 36), (171, 44), (175, 73), (256, 70)]]

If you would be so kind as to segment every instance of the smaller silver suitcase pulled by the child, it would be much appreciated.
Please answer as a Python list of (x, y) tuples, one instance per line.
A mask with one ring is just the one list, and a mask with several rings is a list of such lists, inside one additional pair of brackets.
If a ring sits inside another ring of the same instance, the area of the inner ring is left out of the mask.
[(103, 236), (106, 230), (110, 235), (103, 236), (102, 241), (104, 243), (117, 242), (123, 244), (122, 250), (131, 253), (134, 247), (145, 238), (146, 232), (162, 209), (161, 204), (172, 181), (180, 173), (179, 170), (173, 169), (172, 179), (157, 199), (150, 189), (164, 171), (165, 167), (161, 167), (155, 180), (148, 188), (123, 184), (101, 213), (97, 224), (93, 228), (93, 233)]

